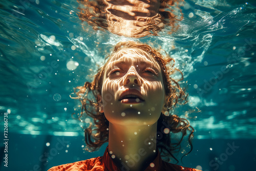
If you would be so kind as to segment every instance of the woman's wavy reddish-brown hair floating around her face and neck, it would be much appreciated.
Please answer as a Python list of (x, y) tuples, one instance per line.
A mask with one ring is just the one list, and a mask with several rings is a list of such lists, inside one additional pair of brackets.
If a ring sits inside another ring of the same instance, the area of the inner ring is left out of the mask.
[[(188, 153), (190, 153), (193, 148), (191, 140), (194, 136), (194, 129), (190, 126), (186, 119), (180, 118), (177, 115), (169, 114), (173, 107), (176, 106), (176, 104), (184, 104), (187, 102), (186, 98), (188, 94), (185, 93), (185, 90), (183, 90), (178, 83), (183, 79), (183, 74), (178, 69), (173, 69), (175, 63), (173, 58), (170, 58), (169, 56), (163, 58), (159, 52), (150, 46), (134, 41), (119, 42), (115, 46), (112, 54), (106, 58), (108, 61), (106, 61), (104, 66), (98, 70), (94, 80), (92, 82), (86, 82), (84, 83), (83, 87), (80, 86), (75, 89), (76, 95), (78, 97), (83, 96), (83, 98), (79, 98), (82, 103), (82, 109), (79, 118), (81, 118), (83, 115), (88, 115), (92, 117), (94, 121), (94, 125), (91, 124), (84, 130), (86, 144), (91, 151), (96, 151), (103, 143), (108, 142), (109, 140), (109, 121), (105, 118), (104, 113), (99, 112), (100, 99), (98, 98), (98, 95), (101, 96), (103, 83), (102, 81), (106, 64), (110, 61), (114, 54), (122, 49), (128, 48), (140, 49), (146, 52), (148, 55), (154, 58), (154, 60), (159, 64), (161, 68), (164, 83), (163, 86), (165, 95), (168, 97), (168, 102), (166, 106), (167, 111), (164, 112), (164, 114), (161, 113), (161, 116), (157, 122), (157, 147), (163, 157), (165, 156), (167, 159), (173, 157), (178, 162), (174, 156), (174, 153), (180, 151), (183, 138), (188, 135), (188, 142), (191, 146)], [(167, 64), (171, 61), (174, 62), (173, 65), (167, 67)], [(180, 80), (176, 81), (170, 76), (177, 71), (181, 73), (182, 77)], [(90, 92), (93, 94), (93, 97), (96, 100), (87, 98), (89, 97)], [(181, 133), (181, 137), (177, 142), (172, 142), (172, 139), (170, 138), (171, 133)]]

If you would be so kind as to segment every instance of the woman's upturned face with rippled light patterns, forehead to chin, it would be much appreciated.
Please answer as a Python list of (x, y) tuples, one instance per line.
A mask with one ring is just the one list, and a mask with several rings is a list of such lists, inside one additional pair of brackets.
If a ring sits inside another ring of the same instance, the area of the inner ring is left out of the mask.
[(151, 125), (165, 104), (160, 66), (140, 49), (122, 49), (106, 64), (103, 111), (113, 124)]

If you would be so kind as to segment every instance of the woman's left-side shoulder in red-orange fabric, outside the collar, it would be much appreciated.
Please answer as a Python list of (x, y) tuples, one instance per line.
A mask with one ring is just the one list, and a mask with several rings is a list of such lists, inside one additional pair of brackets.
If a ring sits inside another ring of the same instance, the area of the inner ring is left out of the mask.
[(48, 171), (89, 171), (103, 170), (102, 157), (91, 158), (88, 160), (77, 161), (74, 163), (62, 164), (50, 168)]

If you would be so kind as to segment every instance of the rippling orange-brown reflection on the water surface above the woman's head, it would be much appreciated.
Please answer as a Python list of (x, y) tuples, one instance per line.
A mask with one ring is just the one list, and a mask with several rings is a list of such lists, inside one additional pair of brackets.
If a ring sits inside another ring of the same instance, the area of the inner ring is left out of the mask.
[(183, 0), (78, 0), (79, 18), (95, 30), (103, 28), (117, 35), (144, 37), (158, 35), (165, 26), (178, 29), (183, 18)]

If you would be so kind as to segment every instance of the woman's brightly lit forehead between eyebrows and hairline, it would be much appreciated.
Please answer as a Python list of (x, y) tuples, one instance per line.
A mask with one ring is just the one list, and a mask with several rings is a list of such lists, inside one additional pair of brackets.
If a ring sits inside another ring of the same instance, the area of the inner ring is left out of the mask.
[(151, 63), (151, 65), (156, 65), (159, 67), (158, 63), (154, 60), (151, 55), (148, 55), (145, 51), (136, 48), (122, 49), (114, 54), (110, 61), (109, 65), (112, 65), (116, 62), (125, 62), (125, 63)]

